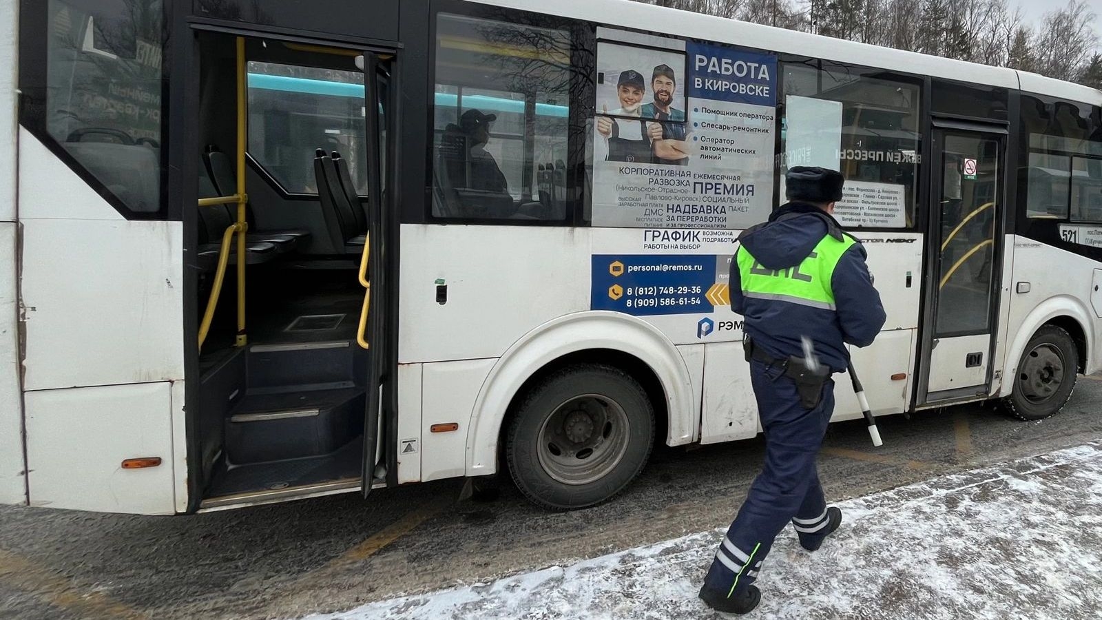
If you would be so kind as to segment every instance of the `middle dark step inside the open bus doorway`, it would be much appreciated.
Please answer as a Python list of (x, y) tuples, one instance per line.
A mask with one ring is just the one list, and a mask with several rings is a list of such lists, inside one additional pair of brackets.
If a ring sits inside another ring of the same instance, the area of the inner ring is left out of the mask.
[(234, 466), (328, 455), (364, 432), (359, 388), (249, 393), (226, 417)]

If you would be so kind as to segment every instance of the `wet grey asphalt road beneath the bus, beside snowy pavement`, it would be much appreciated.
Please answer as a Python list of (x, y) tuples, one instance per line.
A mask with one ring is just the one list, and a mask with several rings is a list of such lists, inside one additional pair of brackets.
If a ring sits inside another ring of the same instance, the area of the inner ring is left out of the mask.
[[(1036, 423), (962, 406), (836, 424), (820, 458), (831, 500), (1102, 437), (1102, 376)], [(604, 505), (548, 513), (511, 485), (458, 502), (462, 482), (194, 516), (0, 507), (0, 618), (301, 618), (595, 557), (730, 523), (760, 438), (661, 448)]]

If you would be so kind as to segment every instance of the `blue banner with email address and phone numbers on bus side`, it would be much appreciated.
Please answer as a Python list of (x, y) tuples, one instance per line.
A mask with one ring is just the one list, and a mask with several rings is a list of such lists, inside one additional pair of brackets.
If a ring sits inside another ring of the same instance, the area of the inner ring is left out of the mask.
[(710, 255), (594, 255), (590, 309), (637, 317), (712, 312), (715, 261)]

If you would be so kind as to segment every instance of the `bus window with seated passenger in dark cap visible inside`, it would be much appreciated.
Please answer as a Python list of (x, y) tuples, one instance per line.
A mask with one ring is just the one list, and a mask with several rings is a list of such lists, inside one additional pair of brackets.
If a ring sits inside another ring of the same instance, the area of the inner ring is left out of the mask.
[(436, 217), (564, 220), (570, 33), (440, 14)]

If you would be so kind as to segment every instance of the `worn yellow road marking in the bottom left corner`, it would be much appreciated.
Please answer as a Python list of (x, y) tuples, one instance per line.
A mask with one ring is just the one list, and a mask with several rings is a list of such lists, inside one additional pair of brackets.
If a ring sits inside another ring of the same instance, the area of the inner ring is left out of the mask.
[(80, 618), (149, 618), (107, 595), (82, 590), (72, 579), (3, 549), (0, 549), (0, 582), (30, 592), (54, 607), (74, 611)]

